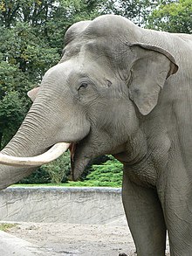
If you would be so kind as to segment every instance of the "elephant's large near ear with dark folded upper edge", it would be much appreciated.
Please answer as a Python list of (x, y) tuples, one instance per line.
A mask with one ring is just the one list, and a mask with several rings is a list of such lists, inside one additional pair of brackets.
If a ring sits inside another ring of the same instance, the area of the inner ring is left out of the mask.
[(129, 97), (141, 114), (149, 114), (157, 104), (165, 81), (178, 70), (174, 57), (154, 45), (129, 45), (137, 56), (131, 70)]

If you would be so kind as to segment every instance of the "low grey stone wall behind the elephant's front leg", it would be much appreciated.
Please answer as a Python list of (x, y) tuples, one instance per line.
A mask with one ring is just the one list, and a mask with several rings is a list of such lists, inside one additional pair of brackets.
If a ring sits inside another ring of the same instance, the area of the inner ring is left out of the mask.
[(121, 190), (11, 187), (0, 191), (0, 220), (73, 224), (124, 224)]

